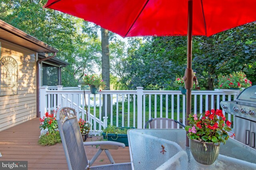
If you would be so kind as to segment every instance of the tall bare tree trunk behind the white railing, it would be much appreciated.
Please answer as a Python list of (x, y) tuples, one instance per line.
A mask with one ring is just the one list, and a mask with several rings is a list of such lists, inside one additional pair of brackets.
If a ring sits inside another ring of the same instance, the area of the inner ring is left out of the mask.
[[(101, 28), (101, 48), (102, 48), (102, 79), (106, 82), (106, 90), (110, 90), (110, 64), (109, 64), (109, 36), (108, 30)], [(105, 116), (105, 95), (102, 101), (102, 117)], [(107, 116), (110, 117), (110, 95), (107, 96)]]

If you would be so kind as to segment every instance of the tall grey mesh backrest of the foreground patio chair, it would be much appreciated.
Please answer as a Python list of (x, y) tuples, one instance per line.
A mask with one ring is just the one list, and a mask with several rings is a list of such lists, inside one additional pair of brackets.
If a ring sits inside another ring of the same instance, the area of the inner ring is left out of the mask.
[(58, 109), (56, 118), (68, 169), (86, 169), (88, 161), (76, 117), (76, 110), (71, 107), (61, 107)]

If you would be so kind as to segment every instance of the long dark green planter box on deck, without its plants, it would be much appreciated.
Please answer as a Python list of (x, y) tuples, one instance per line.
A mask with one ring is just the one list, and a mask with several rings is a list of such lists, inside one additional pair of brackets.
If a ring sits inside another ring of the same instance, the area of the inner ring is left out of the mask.
[[(121, 127), (121, 128), (135, 129), (134, 127)], [(108, 141), (120, 142), (120, 143), (124, 143), (126, 147), (129, 146), (127, 134), (102, 133), (102, 136), (103, 136), (103, 139), (107, 139)]]

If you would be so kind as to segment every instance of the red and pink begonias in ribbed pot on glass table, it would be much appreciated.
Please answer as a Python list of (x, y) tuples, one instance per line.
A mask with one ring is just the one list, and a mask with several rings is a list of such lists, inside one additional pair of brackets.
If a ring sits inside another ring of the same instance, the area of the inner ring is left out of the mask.
[[(188, 131), (190, 150), (195, 160), (210, 165), (218, 157), (220, 143), (225, 144), (230, 137), (228, 132), (231, 131), (231, 122), (226, 121), (222, 110), (219, 109), (205, 111), (205, 115), (201, 115), (189, 115), (190, 125), (186, 126), (185, 130)], [(233, 133), (231, 137), (234, 135)]]

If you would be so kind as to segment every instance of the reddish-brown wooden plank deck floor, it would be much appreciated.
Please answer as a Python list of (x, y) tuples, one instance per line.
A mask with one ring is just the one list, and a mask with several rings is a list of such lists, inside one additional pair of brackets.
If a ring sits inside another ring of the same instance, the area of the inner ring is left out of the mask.
[[(29, 170), (68, 169), (62, 144), (49, 147), (38, 145), (38, 137), (40, 136), (39, 124), (39, 118), (35, 118), (0, 131), (0, 152), (2, 154), (0, 160), (28, 161)], [(100, 138), (92, 137), (86, 141), (97, 141)], [(95, 146), (87, 146), (86, 154), (88, 159), (91, 159), (96, 151)], [(125, 149), (111, 150), (110, 152), (116, 163), (130, 162), (128, 147)], [(93, 166), (109, 163), (105, 152), (102, 152)]]

